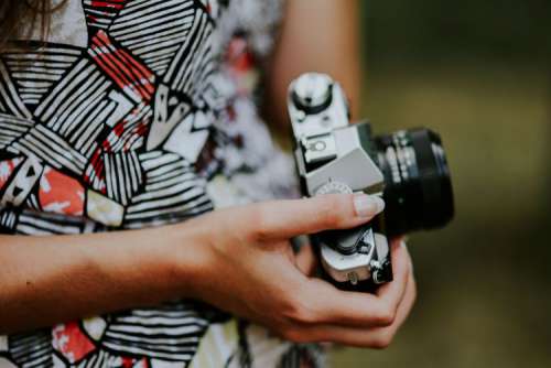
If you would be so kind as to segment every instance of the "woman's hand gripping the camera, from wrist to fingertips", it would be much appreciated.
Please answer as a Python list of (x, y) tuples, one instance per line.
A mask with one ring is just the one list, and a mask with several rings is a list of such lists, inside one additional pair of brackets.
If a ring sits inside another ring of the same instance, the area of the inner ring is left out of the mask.
[(183, 271), (193, 283), (191, 293), (293, 342), (386, 347), (415, 299), (406, 247), (392, 242), (395, 281), (368, 294), (309, 278), (312, 255), (295, 256), (289, 242), (298, 235), (367, 223), (382, 206), (374, 196), (326, 195), (234, 207), (190, 220), (183, 227), (196, 240), (194, 270), (191, 278), (188, 267)]

